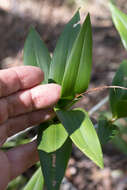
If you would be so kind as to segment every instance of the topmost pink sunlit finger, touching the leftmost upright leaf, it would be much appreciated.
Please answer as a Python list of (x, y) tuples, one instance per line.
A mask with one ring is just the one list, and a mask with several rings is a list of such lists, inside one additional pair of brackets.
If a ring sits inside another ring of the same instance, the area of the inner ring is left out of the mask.
[(0, 97), (22, 89), (32, 88), (43, 81), (44, 74), (38, 67), (18, 66), (0, 70)]

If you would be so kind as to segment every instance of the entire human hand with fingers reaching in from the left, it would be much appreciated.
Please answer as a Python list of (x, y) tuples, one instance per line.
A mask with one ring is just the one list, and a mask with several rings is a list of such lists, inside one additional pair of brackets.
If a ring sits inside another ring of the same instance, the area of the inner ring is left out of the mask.
[[(60, 86), (40, 85), (44, 74), (32, 66), (0, 71), (0, 147), (6, 139), (54, 117)], [(38, 161), (36, 140), (3, 152), (0, 150), (0, 190)]]

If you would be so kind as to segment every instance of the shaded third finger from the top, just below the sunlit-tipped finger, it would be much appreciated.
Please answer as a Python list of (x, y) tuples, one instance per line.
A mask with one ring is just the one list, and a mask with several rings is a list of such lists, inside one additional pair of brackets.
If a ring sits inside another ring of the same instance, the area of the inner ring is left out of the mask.
[(8, 137), (32, 126), (43, 123), (55, 115), (52, 109), (39, 110), (9, 119), (0, 126), (0, 147)]

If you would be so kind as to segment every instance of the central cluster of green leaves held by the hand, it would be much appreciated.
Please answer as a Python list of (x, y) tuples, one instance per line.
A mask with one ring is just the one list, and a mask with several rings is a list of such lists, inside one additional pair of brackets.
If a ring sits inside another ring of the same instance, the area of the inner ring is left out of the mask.
[(101, 146), (88, 113), (71, 106), (86, 91), (92, 65), (92, 28), (88, 14), (82, 26), (77, 12), (60, 35), (53, 56), (34, 28), (24, 47), (24, 64), (40, 67), (43, 84), (61, 85), (56, 118), (39, 126), (38, 152), (48, 190), (59, 189), (72, 150), (72, 142), (98, 166), (103, 167)]

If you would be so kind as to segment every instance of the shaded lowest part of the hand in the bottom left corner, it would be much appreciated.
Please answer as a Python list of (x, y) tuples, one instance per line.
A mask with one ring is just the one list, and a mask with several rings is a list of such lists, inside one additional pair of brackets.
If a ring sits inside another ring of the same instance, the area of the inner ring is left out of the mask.
[(6, 153), (0, 151), (0, 190), (6, 190), (9, 181), (22, 174), (37, 161), (35, 141), (12, 148)]

